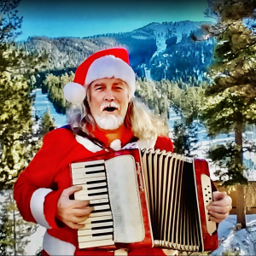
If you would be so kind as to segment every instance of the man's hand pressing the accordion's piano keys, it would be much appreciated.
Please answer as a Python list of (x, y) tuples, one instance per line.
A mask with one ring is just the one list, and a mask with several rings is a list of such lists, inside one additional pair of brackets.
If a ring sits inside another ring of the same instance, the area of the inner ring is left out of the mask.
[(70, 200), (69, 195), (81, 190), (80, 186), (64, 189), (57, 203), (56, 218), (67, 224), (72, 229), (81, 229), (84, 224), (79, 224), (88, 218), (93, 207), (89, 207), (89, 201)]

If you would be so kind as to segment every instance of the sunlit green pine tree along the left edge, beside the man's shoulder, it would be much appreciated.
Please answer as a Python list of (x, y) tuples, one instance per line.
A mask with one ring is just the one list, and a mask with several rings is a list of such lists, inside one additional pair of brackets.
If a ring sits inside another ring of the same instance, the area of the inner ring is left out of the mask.
[[(27, 80), (44, 61), (15, 47), (22, 18), (18, 0), (2, 1), (0, 26), (0, 190), (10, 189), (36, 150), (32, 134), (32, 96)], [(11, 14), (12, 13), (12, 14)]]

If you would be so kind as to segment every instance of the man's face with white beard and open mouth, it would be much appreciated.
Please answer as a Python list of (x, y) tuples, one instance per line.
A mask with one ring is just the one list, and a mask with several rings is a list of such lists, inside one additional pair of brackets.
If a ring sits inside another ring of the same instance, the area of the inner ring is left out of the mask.
[(128, 85), (121, 79), (97, 79), (90, 85), (88, 102), (96, 124), (115, 130), (123, 124), (129, 103)]

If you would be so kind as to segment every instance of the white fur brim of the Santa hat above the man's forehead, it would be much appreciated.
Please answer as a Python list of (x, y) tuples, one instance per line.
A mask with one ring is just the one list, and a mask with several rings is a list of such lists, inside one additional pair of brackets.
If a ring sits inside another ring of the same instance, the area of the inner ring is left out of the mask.
[(87, 87), (97, 79), (121, 79), (130, 87), (133, 96), (135, 92), (135, 73), (123, 60), (113, 55), (106, 55), (93, 61), (88, 69), (84, 86)]

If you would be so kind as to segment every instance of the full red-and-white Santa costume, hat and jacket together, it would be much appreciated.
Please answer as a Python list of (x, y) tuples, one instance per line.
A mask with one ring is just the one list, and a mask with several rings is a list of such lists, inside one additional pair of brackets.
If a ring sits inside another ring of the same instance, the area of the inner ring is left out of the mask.
[[(122, 79), (128, 84), (131, 96), (135, 91), (135, 74), (129, 66), (129, 56), (125, 49), (105, 49), (91, 55), (77, 69), (73, 83), (64, 88), (68, 101), (79, 104), (84, 101), (88, 85), (96, 79)], [(98, 129), (90, 131), (104, 144), (109, 143), (106, 134)], [(121, 131), (120, 140), (110, 144), (110, 148), (160, 148), (172, 151), (168, 137), (152, 137), (140, 140), (131, 129)], [(15, 201), (20, 214), (26, 221), (44, 226), (43, 249), (47, 255), (114, 255), (114, 252), (79, 249), (78, 230), (69, 228), (55, 218), (57, 202), (63, 191), (72, 186), (69, 165), (108, 151), (92, 142), (90, 137), (81, 137), (65, 128), (50, 131), (43, 140), (43, 147), (35, 155), (29, 166), (20, 173), (15, 183)], [(121, 172), (121, 171), (120, 171)], [(128, 255), (165, 255), (160, 248), (140, 248), (130, 250)]]

